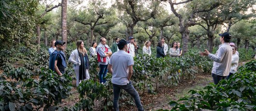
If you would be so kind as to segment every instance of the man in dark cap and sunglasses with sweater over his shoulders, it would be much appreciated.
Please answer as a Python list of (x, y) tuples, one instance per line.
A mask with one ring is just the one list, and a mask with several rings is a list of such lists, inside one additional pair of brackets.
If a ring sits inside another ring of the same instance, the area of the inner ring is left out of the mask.
[(54, 45), (57, 50), (50, 56), (49, 68), (55, 71), (59, 76), (65, 73), (67, 67), (65, 54), (62, 52), (65, 43), (66, 42), (56, 41)]

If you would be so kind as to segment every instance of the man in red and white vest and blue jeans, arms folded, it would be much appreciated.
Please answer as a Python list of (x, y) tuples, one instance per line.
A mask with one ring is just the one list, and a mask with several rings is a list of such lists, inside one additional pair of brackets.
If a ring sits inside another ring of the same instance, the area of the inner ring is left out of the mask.
[(98, 62), (100, 64), (100, 72), (99, 72), (99, 76), (100, 76), (100, 83), (106, 83), (106, 75), (108, 72), (108, 64), (109, 64), (109, 60), (110, 60), (110, 55), (112, 55), (112, 51), (109, 48), (109, 46), (106, 44), (106, 39), (105, 38), (100, 38), (100, 43), (96, 48), (96, 52), (97, 52), (97, 58), (98, 58)]

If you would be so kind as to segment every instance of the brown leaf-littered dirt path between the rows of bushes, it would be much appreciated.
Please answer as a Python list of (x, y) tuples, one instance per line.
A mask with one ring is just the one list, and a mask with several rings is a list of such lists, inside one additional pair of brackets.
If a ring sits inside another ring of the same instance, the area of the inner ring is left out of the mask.
[[(145, 111), (156, 111), (159, 109), (171, 110), (168, 104), (171, 100), (178, 100), (181, 97), (188, 96), (189, 90), (201, 90), (212, 81), (210, 74), (197, 74), (194, 80), (184, 80), (177, 86), (159, 87), (156, 95), (140, 94), (142, 105)], [(73, 83), (74, 84), (74, 83)], [(71, 96), (62, 100), (60, 107), (71, 107), (79, 101), (79, 94), (76, 88), (71, 90)], [(120, 101), (119, 101), (119, 104)], [(97, 109), (95, 109), (98, 111)], [(136, 106), (121, 107), (120, 111), (137, 111)]]

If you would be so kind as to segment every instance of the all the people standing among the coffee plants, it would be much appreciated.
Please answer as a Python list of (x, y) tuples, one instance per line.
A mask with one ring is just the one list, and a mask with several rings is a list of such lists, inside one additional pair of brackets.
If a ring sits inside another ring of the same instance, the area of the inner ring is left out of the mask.
[[(205, 49), (204, 52), (199, 52), (199, 55), (208, 56), (212, 59), (213, 69), (212, 77), (214, 84), (219, 83), (219, 81), (230, 77), (237, 71), (239, 53), (237, 52), (237, 46), (234, 43), (229, 43), (231, 35), (228, 32), (219, 34), (220, 42), (219, 49), (216, 54), (210, 54), (210, 52)], [(100, 83), (106, 83), (107, 72), (112, 74), (112, 84), (114, 90), (114, 110), (118, 109), (118, 100), (120, 90), (126, 90), (135, 100), (135, 104), (139, 111), (143, 111), (142, 103), (138, 92), (133, 87), (131, 83), (132, 76), (132, 66), (134, 64), (133, 57), (136, 52), (138, 52), (138, 45), (134, 41), (134, 37), (129, 37), (128, 41), (124, 39), (115, 38), (115, 42), (110, 48), (106, 44), (105, 38), (100, 38), (100, 43), (93, 42), (90, 47), (90, 56), (97, 56), (99, 62), (99, 80)], [(57, 72), (59, 76), (65, 73), (66, 59), (65, 54), (62, 52), (64, 49), (65, 42), (62, 41), (52, 41), (51, 48), (49, 48), (50, 54), (50, 64), (49, 68)], [(151, 55), (151, 42), (146, 41), (142, 48), (143, 54)], [(74, 64), (74, 71), (76, 73), (76, 86), (81, 83), (81, 81), (88, 80), (89, 76), (89, 60), (87, 51), (84, 47), (84, 42), (79, 40), (76, 42), (77, 48), (72, 51), (69, 61)], [(161, 38), (156, 47), (156, 57), (165, 57), (168, 52), (168, 45), (165, 43), (165, 38)], [(173, 42), (171, 48), (169, 49), (169, 54), (171, 57), (178, 57), (182, 55), (182, 50), (180, 49), (179, 42)]]

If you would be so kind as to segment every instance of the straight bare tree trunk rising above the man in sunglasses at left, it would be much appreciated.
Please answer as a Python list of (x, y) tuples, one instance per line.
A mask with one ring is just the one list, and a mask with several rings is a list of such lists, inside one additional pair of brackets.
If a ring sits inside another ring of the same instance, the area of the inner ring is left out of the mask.
[(64, 51), (67, 48), (67, 0), (61, 1), (61, 39), (66, 42), (64, 45)]

